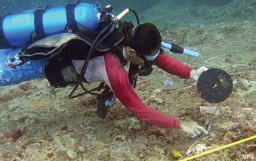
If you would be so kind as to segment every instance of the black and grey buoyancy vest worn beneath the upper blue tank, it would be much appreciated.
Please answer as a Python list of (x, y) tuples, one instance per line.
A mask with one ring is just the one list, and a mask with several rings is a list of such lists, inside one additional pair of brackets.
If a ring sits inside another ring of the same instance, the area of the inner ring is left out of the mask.
[[(67, 85), (76, 85), (78, 74), (69, 72), (73, 78), (67, 82), (63, 79), (63, 69), (75, 71), (71, 60), (86, 60), (91, 44), (97, 35), (89, 32), (62, 33), (45, 37), (41, 40), (32, 43), (27, 48), (24, 48), (19, 57), (21, 60), (47, 60), (48, 64), (45, 67), (46, 79), (54, 87), (66, 87)], [(125, 64), (125, 59), (122, 54), (122, 27), (117, 29), (112, 35), (109, 35), (97, 46), (94, 54), (90, 57), (102, 56), (106, 51), (113, 51), (119, 58), (120, 62)], [(86, 80), (84, 81), (86, 82)]]

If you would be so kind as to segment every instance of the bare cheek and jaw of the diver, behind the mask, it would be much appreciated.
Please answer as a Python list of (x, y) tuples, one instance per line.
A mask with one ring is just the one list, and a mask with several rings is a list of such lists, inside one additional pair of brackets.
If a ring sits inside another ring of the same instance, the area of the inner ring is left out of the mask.
[(134, 49), (131, 49), (129, 46), (125, 46), (125, 54), (128, 60), (130, 60), (135, 65), (144, 65), (144, 60), (136, 54)]

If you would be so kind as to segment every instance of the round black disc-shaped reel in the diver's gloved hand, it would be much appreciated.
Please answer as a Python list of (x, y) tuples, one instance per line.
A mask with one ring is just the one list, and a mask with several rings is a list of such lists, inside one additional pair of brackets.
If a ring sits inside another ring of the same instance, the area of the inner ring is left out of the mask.
[(218, 68), (204, 71), (198, 78), (197, 90), (201, 98), (210, 103), (219, 103), (232, 93), (233, 83), (229, 74)]

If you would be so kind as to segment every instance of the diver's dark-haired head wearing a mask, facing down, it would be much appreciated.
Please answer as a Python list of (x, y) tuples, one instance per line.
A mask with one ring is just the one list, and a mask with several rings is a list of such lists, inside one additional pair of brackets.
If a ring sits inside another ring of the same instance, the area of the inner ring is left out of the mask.
[[(154, 24), (145, 23), (134, 26), (125, 23), (123, 32), (125, 35), (124, 45), (127, 46), (125, 53), (128, 60), (135, 62), (136, 65), (145, 65), (156, 60), (160, 54), (162, 37)], [(129, 54), (131, 54), (131, 58)]]

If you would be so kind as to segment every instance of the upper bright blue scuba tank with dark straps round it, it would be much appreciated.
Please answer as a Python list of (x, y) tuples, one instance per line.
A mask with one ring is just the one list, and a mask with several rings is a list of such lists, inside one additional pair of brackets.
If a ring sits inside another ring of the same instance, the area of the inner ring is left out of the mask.
[(98, 31), (99, 10), (89, 3), (67, 4), (66, 7), (38, 8), (34, 11), (6, 15), (0, 20), (1, 49), (21, 47), (49, 35), (83, 30)]

